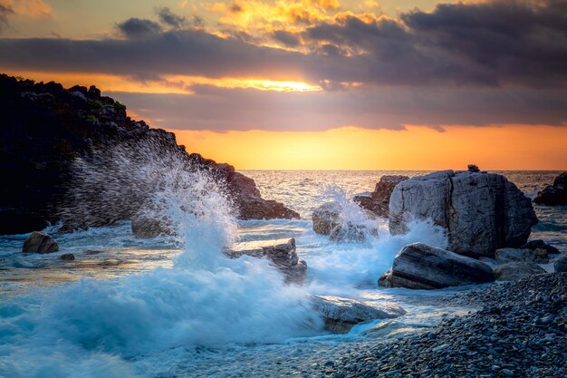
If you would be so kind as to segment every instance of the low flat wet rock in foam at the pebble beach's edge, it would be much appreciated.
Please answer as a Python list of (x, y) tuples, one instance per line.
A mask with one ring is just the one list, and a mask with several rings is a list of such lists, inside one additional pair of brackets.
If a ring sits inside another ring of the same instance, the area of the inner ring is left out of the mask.
[(313, 309), (322, 315), (325, 328), (335, 334), (348, 333), (353, 325), (406, 314), (399, 305), (370, 304), (339, 296), (312, 296)]

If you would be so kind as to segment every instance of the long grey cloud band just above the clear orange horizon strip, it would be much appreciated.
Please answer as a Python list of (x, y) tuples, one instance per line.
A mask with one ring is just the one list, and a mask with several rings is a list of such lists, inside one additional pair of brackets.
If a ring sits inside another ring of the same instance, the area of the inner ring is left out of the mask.
[(193, 86), (195, 93), (111, 93), (144, 118), (178, 130), (323, 131), (356, 125), (548, 124), (567, 120), (567, 90), (508, 92), (489, 88), (372, 88), (336, 92), (269, 92)]

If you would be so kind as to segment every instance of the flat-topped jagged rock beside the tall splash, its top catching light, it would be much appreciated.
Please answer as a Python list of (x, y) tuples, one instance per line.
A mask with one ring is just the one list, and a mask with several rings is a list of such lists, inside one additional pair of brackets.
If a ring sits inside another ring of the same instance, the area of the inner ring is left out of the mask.
[(267, 257), (280, 269), (286, 277), (286, 282), (302, 283), (307, 270), (307, 263), (297, 256), (295, 239), (255, 240), (236, 243), (225, 249), (225, 255), (230, 258), (242, 256)]

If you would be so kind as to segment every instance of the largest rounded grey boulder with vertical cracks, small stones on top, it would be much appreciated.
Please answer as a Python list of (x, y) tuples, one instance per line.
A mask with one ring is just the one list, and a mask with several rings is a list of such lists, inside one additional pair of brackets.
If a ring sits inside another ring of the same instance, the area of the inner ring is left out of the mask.
[(530, 199), (504, 176), (443, 170), (401, 181), (390, 197), (389, 230), (408, 231), (414, 219), (447, 229), (448, 250), (493, 257), (497, 248), (521, 247), (537, 223)]

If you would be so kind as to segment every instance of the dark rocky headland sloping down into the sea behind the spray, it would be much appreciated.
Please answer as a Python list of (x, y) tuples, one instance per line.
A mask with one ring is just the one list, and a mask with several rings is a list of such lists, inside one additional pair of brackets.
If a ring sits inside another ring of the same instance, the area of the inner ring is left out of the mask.
[(64, 89), (56, 82), (0, 75), (0, 113), (0, 171), (10, 178), (0, 186), (0, 235), (31, 232), (59, 220), (63, 220), (63, 230), (72, 230), (132, 218), (149, 193), (128, 188), (128, 181), (122, 190), (127, 199), (115, 203), (101, 203), (107, 199), (93, 183), (92, 195), (78, 199), (84, 208), (96, 211), (89, 218), (66, 213), (64, 206), (72, 199), (69, 188), (78, 159), (96, 159), (97, 151), (109, 146), (135, 149), (143, 141), (151, 141), (158, 153), (186, 160), (187, 170), (213, 172), (234, 196), (240, 218), (299, 217), (281, 203), (262, 199), (254, 180), (234, 167), (189, 155), (177, 144), (175, 134), (131, 120), (123, 104), (101, 96), (94, 86)]

